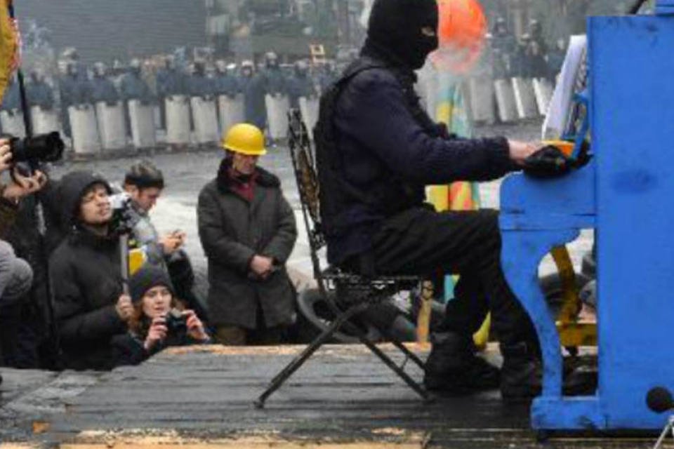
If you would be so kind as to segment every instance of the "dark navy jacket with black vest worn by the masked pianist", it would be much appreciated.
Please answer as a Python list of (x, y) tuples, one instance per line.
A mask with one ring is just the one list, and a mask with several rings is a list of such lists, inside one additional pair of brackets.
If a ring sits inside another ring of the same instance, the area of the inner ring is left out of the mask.
[(414, 93), (414, 72), (395, 58), (364, 48), (342, 80), (331, 110), (330, 90), (324, 94), (317, 126), (333, 127), (335, 145), (316, 138), (329, 262), (369, 250), (383, 220), (421, 206), (425, 185), (492, 180), (515, 169), (505, 138), (458, 139), (434, 123)]

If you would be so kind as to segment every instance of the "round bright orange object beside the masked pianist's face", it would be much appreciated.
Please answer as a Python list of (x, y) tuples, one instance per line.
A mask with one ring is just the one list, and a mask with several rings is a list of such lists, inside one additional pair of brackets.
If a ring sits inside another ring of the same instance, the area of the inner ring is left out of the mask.
[(440, 46), (431, 60), (440, 70), (470, 72), (480, 59), (487, 36), (487, 18), (477, 0), (437, 0)]

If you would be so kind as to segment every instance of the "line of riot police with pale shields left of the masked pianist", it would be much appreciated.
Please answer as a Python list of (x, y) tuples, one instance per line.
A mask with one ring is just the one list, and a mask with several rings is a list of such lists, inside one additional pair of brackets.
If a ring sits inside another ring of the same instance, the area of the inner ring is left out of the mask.
[[(301, 109), (313, 128), (318, 93), (333, 70), (328, 64), (310, 69), (305, 61), (281, 67), (272, 52), (263, 65), (244, 61), (240, 67), (195, 60), (180, 68), (170, 55), (159, 67), (134, 59), (117, 70), (103, 62), (90, 69), (77, 59), (60, 62), (60, 75), (50, 79), (39, 69), (30, 72), (27, 106), (34, 133), (62, 131), (77, 158), (211, 147), (232, 124), (244, 121), (267, 130), (270, 142), (282, 141), (290, 107)], [(0, 126), (4, 133), (23, 136), (18, 91), (12, 81), (0, 107)]]

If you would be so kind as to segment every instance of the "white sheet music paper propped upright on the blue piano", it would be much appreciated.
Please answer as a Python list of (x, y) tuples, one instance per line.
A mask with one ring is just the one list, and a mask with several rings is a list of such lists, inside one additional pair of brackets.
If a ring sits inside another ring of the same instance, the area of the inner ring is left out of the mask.
[(585, 34), (571, 36), (567, 56), (564, 58), (562, 71), (557, 78), (555, 93), (553, 93), (553, 98), (550, 100), (546, 119), (543, 121), (543, 129), (541, 130), (543, 140), (546, 140), (546, 138), (559, 138), (564, 133), (567, 121), (569, 120), (571, 105), (573, 104), (576, 78), (583, 62), (583, 55), (586, 54), (587, 45), (588, 39)]

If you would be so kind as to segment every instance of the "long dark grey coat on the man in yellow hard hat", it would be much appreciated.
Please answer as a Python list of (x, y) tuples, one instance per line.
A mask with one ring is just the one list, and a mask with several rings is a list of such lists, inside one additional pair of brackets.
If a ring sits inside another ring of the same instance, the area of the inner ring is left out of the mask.
[[(197, 220), (201, 246), (209, 260), (209, 313), (216, 326), (254, 329), (258, 304), (264, 325), (293, 321), (295, 290), (285, 263), (297, 239), (295, 215), (284, 198), (279, 179), (258, 168), (253, 200), (230, 189), (227, 160), (218, 177), (199, 194)], [(253, 255), (273, 257), (279, 269), (267, 279), (254, 279)]]

